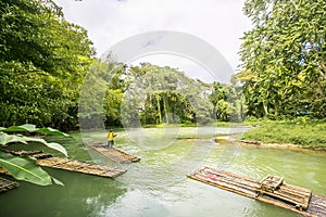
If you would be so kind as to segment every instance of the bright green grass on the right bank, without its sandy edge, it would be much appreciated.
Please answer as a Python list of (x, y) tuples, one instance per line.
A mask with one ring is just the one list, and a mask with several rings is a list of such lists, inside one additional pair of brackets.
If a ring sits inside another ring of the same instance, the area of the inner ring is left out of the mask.
[(255, 122), (255, 128), (243, 133), (243, 140), (292, 143), (308, 149), (326, 150), (326, 122)]

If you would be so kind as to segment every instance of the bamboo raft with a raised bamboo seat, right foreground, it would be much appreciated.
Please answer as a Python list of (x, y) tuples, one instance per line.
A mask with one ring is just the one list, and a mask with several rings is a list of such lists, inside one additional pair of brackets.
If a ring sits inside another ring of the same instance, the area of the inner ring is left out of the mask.
[(287, 208), (303, 216), (326, 216), (326, 197), (313, 195), (308, 189), (285, 183), (280, 177), (268, 175), (260, 181), (211, 167), (203, 167), (187, 176), (203, 183)]

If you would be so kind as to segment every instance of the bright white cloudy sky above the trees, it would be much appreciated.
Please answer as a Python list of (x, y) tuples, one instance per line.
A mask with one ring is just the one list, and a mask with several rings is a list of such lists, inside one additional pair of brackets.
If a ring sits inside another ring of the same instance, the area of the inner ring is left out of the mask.
[[(148, 31), (177, 31), (189, 35), (188, 47), (196, 38), (206, 42), (225, 59), (221, 65), (239, 71), (239, 51), (243, 31), (251, 28), (243, 15), (244, 0), (54, 0), (65, 20), (87, 29), (97, 56), (121, 41)], [(191, 38), (193, 37), (193, 38)], [(149, 40), (151, 41), (151, 40)], [(183, 41), (179, 41), (183, 42)], [(178, 43), (176, 41), (175, 43)], [(221, 58), (221, 56), (220, 56)], [(151, 53), (128, 62), (170, 65), (204, 81), (216, 79), (202, 61), (179, 53)], [(217, 76), (218, 77), (218, 76)]]

